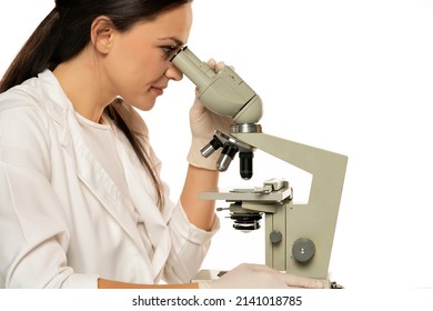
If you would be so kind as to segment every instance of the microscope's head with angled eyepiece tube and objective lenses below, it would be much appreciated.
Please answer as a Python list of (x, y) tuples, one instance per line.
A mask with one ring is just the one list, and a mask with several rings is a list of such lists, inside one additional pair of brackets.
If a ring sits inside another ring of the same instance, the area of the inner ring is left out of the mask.
[[(207, 109), (233, 120), (232, 131), (261, 131), (256, 122), (262, 117), (262, 101), (232, 68), (223, 67), (215, 72), (188, 47), (181, 48), (170, 61), (197, 86), (198, 98)], [(241, 177), (251, 179), (253, 147), (216, 131), (201, 153), (208, 158), (219, 148), (222, 148), (215, 164), (219, 171), (225, 171), (239, 152)]]

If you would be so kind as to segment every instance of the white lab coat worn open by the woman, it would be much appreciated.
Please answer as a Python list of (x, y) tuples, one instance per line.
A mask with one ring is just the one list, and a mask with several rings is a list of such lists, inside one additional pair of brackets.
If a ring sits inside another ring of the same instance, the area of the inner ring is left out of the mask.
[[(141, 118), (135, 127), (148, 134)], [(211, 232), (195, 228), (168, 191), (160, 211), (123, 134), (117, 149), (153, 257), (52, 72), (0, 96), (0, 288), (95, 288), (99, 277), (174, 283), (197, 273), (219, 221)]]

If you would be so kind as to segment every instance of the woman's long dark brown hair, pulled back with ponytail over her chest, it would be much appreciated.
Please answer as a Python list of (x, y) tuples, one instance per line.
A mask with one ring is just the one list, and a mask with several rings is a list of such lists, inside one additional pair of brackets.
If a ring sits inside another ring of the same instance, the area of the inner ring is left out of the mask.
[[(90, 28), (100, 16), (111, 19), (119, 31), (127, 31), (138, 21), (151, 21), (162, 12), (192, 0), (56, 0), (56, 8), (42, 20), (0, 81), (0, 93), (37, 77), (46, 69), (70, 60), (90, 42)], [(125, 134), (157, 190), (157, 203), (163, 205), (162, 184), (153, 173), (142, 139), (110, 103), (104, 113)]]

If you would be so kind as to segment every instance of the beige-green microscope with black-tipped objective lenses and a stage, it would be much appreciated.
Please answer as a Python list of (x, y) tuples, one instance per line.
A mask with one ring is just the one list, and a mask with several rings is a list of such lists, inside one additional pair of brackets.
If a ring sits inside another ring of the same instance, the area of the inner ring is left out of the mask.
[(262, 132), (262, 100), (230, 67), (214, 72), (188, 47), (171, 59), (198, 88), (198, 98), (213, 113), (232, 119), (229, 133), (215, 131), (203, 147), (203, 157), (222, 149), (215, 168), (228, 170), (235, 154), (240, 175), (253, 174), (253, 154), (262, 150), (311, 173), (306, 204), (293, 203), (289, 181), (270, 179), (254, 189), (211, 190), (203, 200), (230, 203), (230, 218), (235, 230), (260, 228), (264, 215), (265, 264), (286, 273), (320, 279), (325, 288), (340, 288), (329, 280), (329, 264), (343, 191), (348, 157), (273, 137)]

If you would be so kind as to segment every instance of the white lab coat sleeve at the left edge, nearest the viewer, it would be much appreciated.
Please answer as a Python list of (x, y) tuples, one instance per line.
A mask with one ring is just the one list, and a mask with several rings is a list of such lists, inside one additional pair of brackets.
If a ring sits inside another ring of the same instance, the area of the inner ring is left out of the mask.
[(97, 287), (74, 274), (69, 232), (50, 185), (49, 127), (37, 108), (0, 110), (0, 288)]

